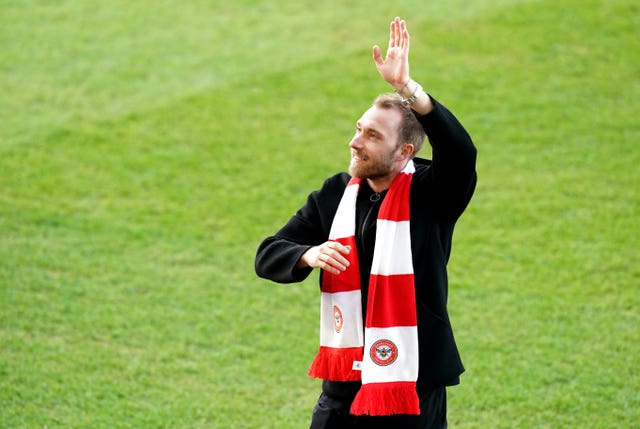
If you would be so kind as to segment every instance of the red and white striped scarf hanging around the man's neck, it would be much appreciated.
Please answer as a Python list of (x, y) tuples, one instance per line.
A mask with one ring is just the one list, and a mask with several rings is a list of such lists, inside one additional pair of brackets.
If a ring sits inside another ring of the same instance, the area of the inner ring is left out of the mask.
[(367, 320), (362, 326), (360, 272), (355, 242), (356, 198), (361, 179), (351, 178), (329, 239), (351, 246), (348, 268), (322, 273), (320, 350), (309, 375), (362, 381), (351, 413), (420, 414), (418, 327), (414, 289), (409, 191), (413, 161), (396, 176), (380, 206), (369, 277)]

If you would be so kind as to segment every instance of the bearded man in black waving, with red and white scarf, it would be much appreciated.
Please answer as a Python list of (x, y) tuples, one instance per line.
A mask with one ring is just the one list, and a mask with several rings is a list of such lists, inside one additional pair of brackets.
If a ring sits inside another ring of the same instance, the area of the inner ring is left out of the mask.
[[(447, 313), (455, 222), (476, 184), (476, 149), (409, 77), (405, 21), (373, 59), (395, 94), (357, 121), (349, 173), (330, 177), (260, 245), (256, 273), (291, 283), (319, 268), (323, 379), (311, 428), (445, 428), (445, 387), (464, 371)], [(433, 160), (414, 158), (425, 140)]]

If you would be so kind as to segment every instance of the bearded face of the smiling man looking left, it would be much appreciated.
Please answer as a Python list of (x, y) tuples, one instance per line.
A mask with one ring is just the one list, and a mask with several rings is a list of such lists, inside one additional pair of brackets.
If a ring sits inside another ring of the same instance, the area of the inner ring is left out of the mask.
[(400, 112), (373, 106), (356, 124), (351, 139), (349, 174), (363, 179), (378, 179), (394, 172)]

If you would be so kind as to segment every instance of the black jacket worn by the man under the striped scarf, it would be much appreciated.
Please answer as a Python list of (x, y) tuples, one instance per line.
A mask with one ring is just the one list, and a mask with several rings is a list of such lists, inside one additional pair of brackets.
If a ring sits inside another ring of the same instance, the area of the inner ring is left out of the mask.
[[(476, 149), (471, 138), (449, 110), (435, 100), (434, 104), (431, 113), (418, 117), (432, 146), (433, 160), (414, 159), (416, 172), (410, 194), (420, 353), (419, 393), (457, 384), (464, 371), (447, 312), (446, 267), (454, 225), (469, 203), (476, 184)], [(311, 268), (297, 269), (296, 263), (307, 249), (328, 239), (349, 178), (348, 174), (340, 173), (327, 179), (280, 231), (260, 244), (255, 260), (256, 273), (260, 277), (292, 283), (302, 281), (310, 274)], [(363, 223), (367, 222), (364, 213), (372, 204), (368, 200), (371, 192), (363, 181), (357, 202), (358, 230), (362, 230)], [(374, 208), (376, 214), (377, 208)], [(375, 217), (367, 217), (374, 221), (364, 225), (369, 237), (371, 233), (375, 237)], [(365, 311), (365, 289), (373, 249), (362, 249), (363, 240), (357, 237), (357, 241)]]

